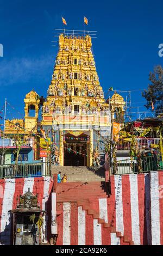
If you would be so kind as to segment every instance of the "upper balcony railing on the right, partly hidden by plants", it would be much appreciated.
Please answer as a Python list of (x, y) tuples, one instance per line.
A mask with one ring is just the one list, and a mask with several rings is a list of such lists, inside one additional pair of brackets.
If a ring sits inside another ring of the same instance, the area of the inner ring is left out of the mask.
[[(159, 138), (148, 138), (148, 139), (140, 138), (140, 139), (136, 139), (136, 141), (137, 141), (137, 148), (138, 149), (149, 150), (150, 147), (151, 147), (151, 144), (158, 145), (159, 142), (160, 142), (160, 139)], [(129, 150), (130, 147), (131, 147), (131, 142), (122, 142), (122, 143), (118, 142), (117, 143), (117, 149), (118, 150), (121, 150), (121, 149), (122, 150), (125, 150), (125, 149)]]

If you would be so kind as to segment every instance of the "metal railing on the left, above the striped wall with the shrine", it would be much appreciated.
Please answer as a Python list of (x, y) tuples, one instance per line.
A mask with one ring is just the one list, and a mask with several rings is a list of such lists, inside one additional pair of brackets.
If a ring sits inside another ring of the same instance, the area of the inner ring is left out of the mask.
[(0, 179), (51, 176), (48, 162), (0, 165)]

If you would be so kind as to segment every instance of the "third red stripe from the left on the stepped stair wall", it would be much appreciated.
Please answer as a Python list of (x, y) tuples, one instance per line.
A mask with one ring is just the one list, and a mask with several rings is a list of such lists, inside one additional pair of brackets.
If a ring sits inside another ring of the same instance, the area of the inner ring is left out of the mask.
[(85, 211), (85, 245), (93, 245), (93, 216)]

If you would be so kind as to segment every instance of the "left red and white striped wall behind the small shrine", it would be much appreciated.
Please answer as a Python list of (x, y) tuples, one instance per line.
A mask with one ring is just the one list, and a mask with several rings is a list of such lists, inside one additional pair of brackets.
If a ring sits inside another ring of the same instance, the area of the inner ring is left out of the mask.
[[(52, 186), (53, 180), (50, 177), (0, 180), (0, 242), (2, 244), (11, 244), (11, 214), (8, 211), (16, 208), (16, 198), (30, 188), (30, 192), (38, 194), (40, 208), (48, 213), (51, 212), (51, 202), (48, 199)], [(48, 214), (46, 214), (44, 228), (47, 239)]]

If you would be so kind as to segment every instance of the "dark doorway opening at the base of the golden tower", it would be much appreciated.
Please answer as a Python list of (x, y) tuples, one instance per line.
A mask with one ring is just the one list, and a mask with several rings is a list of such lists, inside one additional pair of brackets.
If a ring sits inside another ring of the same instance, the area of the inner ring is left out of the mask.
[[(80, 132), (81, 133), (81, 132)], [(88, 136), (67, 133), (64, 136), (64, 166), (87, 166)]]

